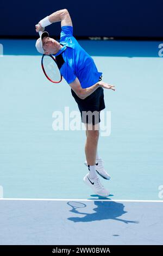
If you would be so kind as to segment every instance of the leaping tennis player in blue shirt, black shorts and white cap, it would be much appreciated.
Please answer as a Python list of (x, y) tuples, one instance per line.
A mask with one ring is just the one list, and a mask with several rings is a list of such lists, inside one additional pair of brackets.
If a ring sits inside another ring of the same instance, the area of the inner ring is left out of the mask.
[[(50, 38), (48, 32), (43, 32), (45, 27), (54, 22), (61, 22), (60, 42)], [(100, 175), (109, 180), (110, 175), (104, 169), (97, 145), (100, 111), (105, 108), (103, 88), (115, 91), (115, 86), (101, 81), (102, 72), (98, 72), (93, 59), (73, 37), (72, 21), (66, 9), (45, 17), (35, 28), (36, 32), (43, 32), (36, 41), (37, 51), (55, 56), (60, 73), (71, 87), (72, 96), (86, 126), (85, 165), (89, 172), (85, 175), (84, 182), (99, 196), (109, 196), (109, 191), (98, 178)]]

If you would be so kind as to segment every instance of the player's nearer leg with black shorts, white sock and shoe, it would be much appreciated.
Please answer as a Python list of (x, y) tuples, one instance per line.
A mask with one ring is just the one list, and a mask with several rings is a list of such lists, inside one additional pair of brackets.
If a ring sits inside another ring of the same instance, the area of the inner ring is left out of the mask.
[[(86, 124), (87, 138), (85, 143), (85, 154), (86, 159), (89, 163), (87, 168), (89, 173), (84, 177), (84, 182), (92, 188), (92, 190), (99, 196), (109, 196), (109, 191), (106, 190), (99, 178), (96, 171), (96, 151), (99, 137), (99, 110), (104, 109), (104, 105), (101, 105), (100, 97), (102, 88), (97, 89), (98, 92), (94, 92), (92, 95), (88, 96), (85, 100), (79, 99), (79, 97), (71, 89), (72, 96), (78, 103), (79, 111), (82, 117), (82, 123)], [(101, 106), (99, 106), (101, 105)], [(85, 113), (86, 112), (86, 113)], [(89, 112), (89, 113), (88, 113)], [(91, 113), (90, 113), (91, 112)], [(98, 125), (98, 129), (97, 129)], [(90, 129), (92, 126), (92, 129)], [(95, 129), (96, 126), (96, 129)], [(92, 164), (92, 165), (91, 165)], [(91, 175), (91, 178), (90, 178)]]

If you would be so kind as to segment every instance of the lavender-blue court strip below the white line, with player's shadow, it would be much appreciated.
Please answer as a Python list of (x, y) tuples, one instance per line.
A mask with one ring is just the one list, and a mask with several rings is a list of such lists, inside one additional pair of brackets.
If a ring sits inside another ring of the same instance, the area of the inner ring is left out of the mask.
[(163, 245), (161, 202), (71, 203), (0, 200), (0, 245)]

